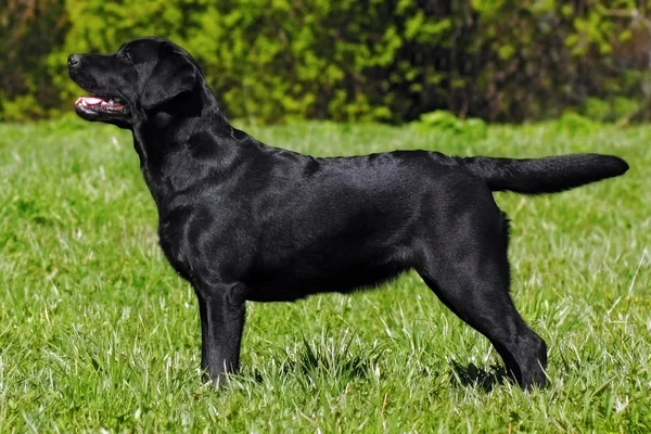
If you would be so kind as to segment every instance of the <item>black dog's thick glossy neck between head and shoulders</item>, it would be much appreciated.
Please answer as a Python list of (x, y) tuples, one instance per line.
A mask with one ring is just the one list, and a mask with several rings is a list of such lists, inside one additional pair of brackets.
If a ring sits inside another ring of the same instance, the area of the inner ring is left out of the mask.
[(219, 177), (240, 159), (241, 131), (229, 124), (207, 84), (197, 86), (184, 101), (132, 128), (140, 168), (159, 210), (191, 183)]

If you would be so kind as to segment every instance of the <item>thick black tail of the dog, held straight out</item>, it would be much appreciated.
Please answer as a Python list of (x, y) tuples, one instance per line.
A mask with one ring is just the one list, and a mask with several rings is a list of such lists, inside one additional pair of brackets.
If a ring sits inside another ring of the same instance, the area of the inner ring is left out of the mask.
[(557, 193), (623, 175), (628, 164), (613, 155), (572, 154), (515, 159), (455, 157), (493, 191), (523, 194)]

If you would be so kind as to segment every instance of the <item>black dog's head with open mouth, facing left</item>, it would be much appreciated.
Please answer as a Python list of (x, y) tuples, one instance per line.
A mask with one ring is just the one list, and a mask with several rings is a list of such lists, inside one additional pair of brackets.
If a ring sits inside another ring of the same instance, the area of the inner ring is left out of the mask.
[(80, 117), (128, 129), (154, 111), (174, 112), (200, 77), (188, 52), (157, 38), (135, 39), (115, 54), (71, 54), (68, 71), (90, 93), (75, 103)]

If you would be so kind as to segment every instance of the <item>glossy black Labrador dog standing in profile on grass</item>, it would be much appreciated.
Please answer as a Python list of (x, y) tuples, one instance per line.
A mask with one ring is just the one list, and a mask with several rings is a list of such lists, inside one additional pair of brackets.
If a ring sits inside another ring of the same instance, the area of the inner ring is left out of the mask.
[(199, 297), (210, 379), (239, 367), (246, 301), (347, 293), (414, 269), (490, 340), (522, 387), (545, 385), (547, 348), (511, 302), (509, 224), (492, 192), (560, 192), (624, 174), (623, 159), (315, 158), (231, 127), (196, 62), (171, 42), (74, 54), (68, 67), (93, 94), (77, 100), (79, 116), (133, 133), (161, 246)]

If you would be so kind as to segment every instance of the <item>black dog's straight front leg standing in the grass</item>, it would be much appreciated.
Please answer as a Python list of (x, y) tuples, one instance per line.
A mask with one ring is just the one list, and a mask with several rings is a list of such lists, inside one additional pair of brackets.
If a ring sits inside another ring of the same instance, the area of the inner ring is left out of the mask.
[(225, 384), (240, 366), (246, 286), (242, 283), (195, 285), (201, 315), (201, 368), (204, 381)]

